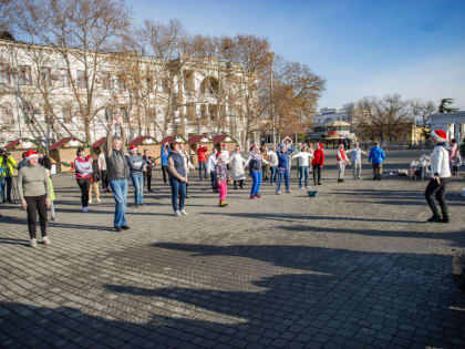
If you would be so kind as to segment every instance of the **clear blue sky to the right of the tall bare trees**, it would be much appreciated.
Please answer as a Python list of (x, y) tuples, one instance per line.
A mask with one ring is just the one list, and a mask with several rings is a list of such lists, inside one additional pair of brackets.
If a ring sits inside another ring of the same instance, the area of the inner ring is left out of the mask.
[(132, 0), (136, 20), (269, 38), (327, 80), (319, 106), (362, 96), (454, 97), (465, 110), (465, 0)]

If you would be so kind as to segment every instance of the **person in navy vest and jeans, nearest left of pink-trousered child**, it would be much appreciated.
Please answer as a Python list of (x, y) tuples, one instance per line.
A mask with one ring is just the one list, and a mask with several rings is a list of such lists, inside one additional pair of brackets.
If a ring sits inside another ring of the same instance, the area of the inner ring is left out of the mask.
[(184, 209), (186, 201), (186, 183), (187, 168), (184, 156), (180, 154), (180, 145), (178, 142), (170, 144), (170, 153), (168, 156), (168, 174), (169, 184), (172, 186), (172, 205), (175, 216), (185, 216), (187, 212)]

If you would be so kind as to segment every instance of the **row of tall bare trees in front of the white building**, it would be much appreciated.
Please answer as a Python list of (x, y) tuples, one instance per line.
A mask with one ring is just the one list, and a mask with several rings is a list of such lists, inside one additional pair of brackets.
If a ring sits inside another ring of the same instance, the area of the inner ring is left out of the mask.
[(27, 42), (6, 44), (0, 65), (27, 61), (33, 73), (11, 71), (17, 79), (0, 93), (31, 111), (23, 126), (38, 138), (91, 143), (93, 130), (123, 114), (132, 137), (194, 127), (241, 132), (247, 144), (261, 130), (308, 127), (324, 89), (306, 64), (272, 54), (266, 38), (192, 35), (176, 20), (134, 23), (122, 0), (3, 0), (0, 12), (1, 29)]

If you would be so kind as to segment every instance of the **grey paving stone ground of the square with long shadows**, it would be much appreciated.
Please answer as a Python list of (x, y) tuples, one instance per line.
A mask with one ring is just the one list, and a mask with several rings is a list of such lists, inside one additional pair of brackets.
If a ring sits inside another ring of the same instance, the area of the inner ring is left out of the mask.
[[(80, 212), (71, 176), (55, 176), (52, 245), (29, 247), (25, 213), (0, 218), (2, 348), (464, 348), (465, 292), (452, 277), (465, 246), (463, 179), (453, 223), (425, 224), (425, 182), (337, 183), (329, 151), (319, 197), (297, 187), (264, 197), (229, 187), (217, 207), (193, 174), (189, 215), (172, 215), (156, 171), (131, 230), (110, 230), (113, 201)], [(406, 168), (417, 152), (388, 152)], [(130, 195), (133, 202), (133, 194)]]

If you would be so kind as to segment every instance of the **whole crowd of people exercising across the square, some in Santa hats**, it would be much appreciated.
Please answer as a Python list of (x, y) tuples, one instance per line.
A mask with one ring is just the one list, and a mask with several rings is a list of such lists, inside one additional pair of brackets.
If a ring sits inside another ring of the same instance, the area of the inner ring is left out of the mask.
[[(114, 127), (120, 125), (121, 137), (113, 136)], [(432, 178), (425, 191), (425, 198), (433, 216), (427, 222), (448, 223), (447, 204), (444, 198), (446, 185), (452, 173), (457, 173), (461, 165), (461, 154), (456, 142), (448, 144), (445, 132), (434, 131), (433, 138), (436, 144), (432, 154)], [(162, 145), (161, 155), (153, 157), (148, 150), (141, 153), (137, 146), (131, 145), (125, 150), (125, 135), (122, 120), (115, 120), (110, 127), (106, 144), (102, 152), (84, 155), (84, 148), (78, 148), (74, 160), (75, 179), (81, 191), (82, 212), (89, 212), (93, 196), (96, 203), (101, 202), (100, 183), (104, 193), (112, 193), (115, 201), (113, 229), (115, 232), (130, 229), (126, 222), (126, 206), (128, 179), (134, 187), (134, 207), (144, 205), (144, 188), (152, 192), (152, 171), (157, 161), (162, 165), (163, 181), (169, 183), (172, 192), (172, 207), (175, 216), (187, 215), (185, 208), (188, 198), (189, 172), (195, 170), (190, 154), (184, 144), (173, 142)], [(259, 146), (252, 143), (248, 155), (244, 156), (239, 146), (231, 153), (226, 145), (219, 150), (199, 146), (198, 177), (200, 181), (210, 177), (211, 191), (218, 194), (218, 206), (226, 207), (228, 184), (234, 184), (234, 189), (242, 189), (248, 175), (251, 178), (250, 199), (261, 197), (260, 188), (265, 183), (275, 186), (277, 195), (281, 195), (281, 186), (286, 193), (291, 193), (291, 162), (297, 160), (299, 188), (309, 189), (309, 177), (312, 174), (313, 185), (322, 183), (322, 168), (324, 166), (324, 146), (322, 143), (298, 143), (285, 140), (278, 146)], [(338, 183), (344, 182), (345, 167), (352, 166), (353, 179), (361, 178), (362, 156), (366, 156), (372, 164), (373, 179), (381, 181), (385, 152), (376, 143), (370, 153), (365, 153), (355, 142), (354, 147), (345, 150), (340, 144), (337, 154)], [(3, 152), (0, 155), (0, 189), (2, 201), (11, 202), (13, 170), (18, 168), (18, 195), (21, 206), (28, 214), (28, 227), (31, 246), (37, 246), (37, 216), (39, 215), (42, 240), (50, 245), (48, 237), (48, 208), (51, 219), (55, 219), (53, 207), (54, 191), (50, 174), (51, 162), (43, 152), (28, 151), (19, 163)], [(437, 208), (434, 198), (438, 202)]]

